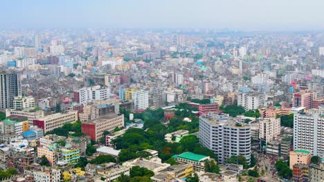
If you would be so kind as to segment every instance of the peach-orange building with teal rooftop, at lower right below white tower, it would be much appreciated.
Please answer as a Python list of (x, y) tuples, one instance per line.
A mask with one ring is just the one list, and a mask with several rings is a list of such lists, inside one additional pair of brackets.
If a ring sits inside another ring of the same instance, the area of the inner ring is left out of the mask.
[(312, 158), (312, 152), (309, 150), (294, 150), (289, 153), (289, 168), (295, 164), (309, 165)]

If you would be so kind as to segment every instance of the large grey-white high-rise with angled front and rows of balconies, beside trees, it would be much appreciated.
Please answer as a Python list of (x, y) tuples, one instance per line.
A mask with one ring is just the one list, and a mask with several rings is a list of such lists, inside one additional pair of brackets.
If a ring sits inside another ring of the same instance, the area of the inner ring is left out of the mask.
[(238, 123), (231, 117), (219, 114), (203, 114), (199, 117), (199, 143), (213, 150), (219, 163), (235, 155), (251, 159), (251, 131), (249, 125)]

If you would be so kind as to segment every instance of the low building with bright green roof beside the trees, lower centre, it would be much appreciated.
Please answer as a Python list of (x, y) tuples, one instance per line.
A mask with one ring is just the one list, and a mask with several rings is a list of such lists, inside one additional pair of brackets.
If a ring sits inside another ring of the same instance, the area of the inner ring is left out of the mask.
[(192, 152), (184, 152), (172, 157), (177, 161), (177, 163), (191, 163), (194, 167), (194, 172), (204, 171), (205, 161), (208, 161), (210, 159), (209, 156), (194, 154)]

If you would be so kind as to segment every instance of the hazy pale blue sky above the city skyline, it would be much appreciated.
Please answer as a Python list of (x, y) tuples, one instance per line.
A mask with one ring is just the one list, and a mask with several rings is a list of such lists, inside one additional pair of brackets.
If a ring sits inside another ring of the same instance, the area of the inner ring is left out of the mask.
[(0, 28), (323, 30), (323, 0), (1, 0)]

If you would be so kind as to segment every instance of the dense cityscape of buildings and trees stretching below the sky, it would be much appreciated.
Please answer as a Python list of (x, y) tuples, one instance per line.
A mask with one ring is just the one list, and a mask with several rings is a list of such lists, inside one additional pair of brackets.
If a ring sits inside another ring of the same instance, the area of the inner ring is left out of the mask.
[(0, 181), (324, 181), (323, 31), (1, 28)]

